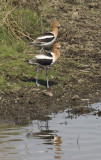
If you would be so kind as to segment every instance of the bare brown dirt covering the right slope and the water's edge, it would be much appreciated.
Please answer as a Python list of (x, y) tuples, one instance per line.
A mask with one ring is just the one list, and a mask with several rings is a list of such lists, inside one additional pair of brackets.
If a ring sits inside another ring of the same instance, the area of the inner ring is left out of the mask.
[[(49, 114), (66, 108), (72, 108), (76, 114), (89, 113), (89, 105), (101, 101), (100, 0), (47, 1), (40, 7), (40, 15), (46, 17), (48, 24), (54, 20), (61, 24), (57, 39), (62, 45), (58, 73), (51, 76), (49, 89), (40, 80), (43, 87), (1, 93), (0, 118), (17, 124), (46, 120)], [(28, 77), (24, 80), (35, 83)], [(87, 109), (81, 107), (84, 105)]]

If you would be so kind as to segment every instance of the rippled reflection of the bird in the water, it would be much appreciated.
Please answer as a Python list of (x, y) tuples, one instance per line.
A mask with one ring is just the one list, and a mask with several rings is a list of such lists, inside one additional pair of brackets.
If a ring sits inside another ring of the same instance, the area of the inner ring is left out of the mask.
[(61, 149), (62, 140), (61, 140), (61, 137), (56, 134), (57, 130), (50, 130), (48, 121), (47, 123), (45, 122), (45, 124), (42, 124), (42, 122), (38, 123), (38, 129), (39, 129), (39, 132), (28, 133), (27, 137), (38, 138), (43, 140), (43, 142), (41, 142), (41, 145), (44, 144), (44, 145), (53, 146), (47, 149), (54, 151), (53, 154), (55, 159), (61, 159), (61, 156), (63, 154)]

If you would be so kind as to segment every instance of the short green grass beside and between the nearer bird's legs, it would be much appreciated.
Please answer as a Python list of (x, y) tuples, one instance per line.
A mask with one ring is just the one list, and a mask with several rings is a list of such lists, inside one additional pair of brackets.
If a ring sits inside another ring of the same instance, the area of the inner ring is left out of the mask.
[[(35, 87), (37, 66), (26, 63), (27, 59), (36, 55), (36, 50), (26, 42), (17, 42), (12, 46), (0, 46), (0, 90), (18, 91), (22, 87)], [(49, 80), (56, 76), (58, 64), (49, 69)], [(46, 81), (45, 70), (39, 71), (39, 80)], [(33, 79), (31, 81), (31, 79)], [(45, 82), (46, 83), (46, 82)]]

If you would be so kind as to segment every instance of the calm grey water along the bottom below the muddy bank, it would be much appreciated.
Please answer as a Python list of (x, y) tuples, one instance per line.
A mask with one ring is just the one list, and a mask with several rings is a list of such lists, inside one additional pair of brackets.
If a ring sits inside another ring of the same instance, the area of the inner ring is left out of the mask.
[(101, 117), (68, 119), (67, 111), (50, 117), (25, 127), (0, 124), (0, 160), (101, 159)]

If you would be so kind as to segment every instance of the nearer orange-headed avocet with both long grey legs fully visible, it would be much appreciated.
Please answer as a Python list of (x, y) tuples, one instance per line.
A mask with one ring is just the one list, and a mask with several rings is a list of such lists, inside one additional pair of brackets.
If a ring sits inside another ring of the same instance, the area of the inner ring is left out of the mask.
[(53, 47), (53, 52), (45, 52), (45, 54), (38, 54), (35, 58), (28, 60), (29, 64), (37, 64), (39, 68), (37, 69), (37, 77), (36, 77), (36, 85), (39, 86), (38, 83), (38, 72), (40, 67), (46, 68), (46, 80), (47, 80), (47, 88), (49, 88), (48, 84), (48, 67), (53, 65), (57, 59), (60, 57), (60, 43), (55, 43)]

